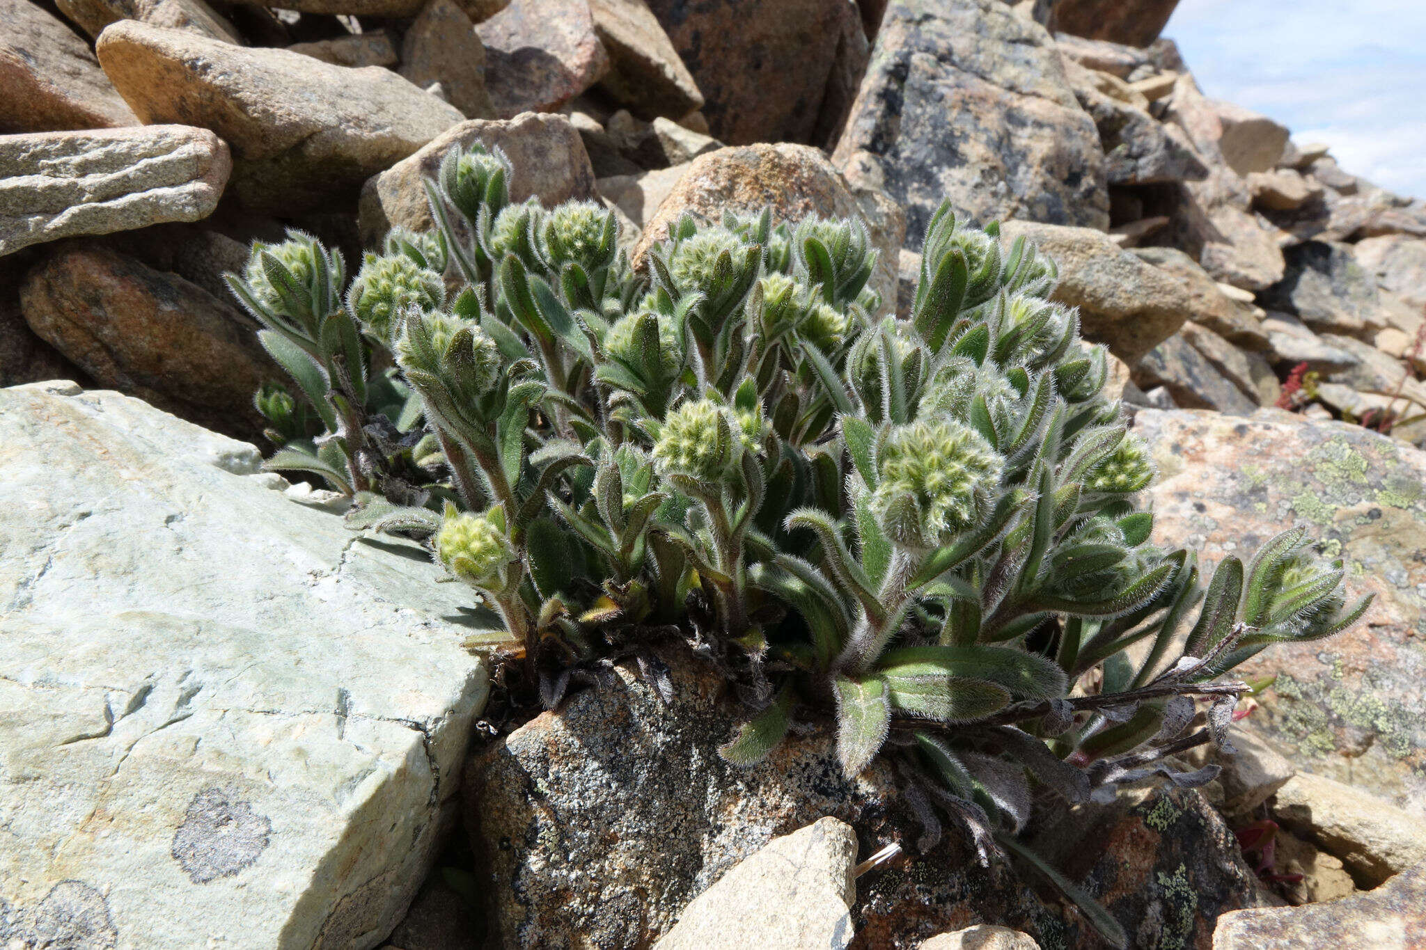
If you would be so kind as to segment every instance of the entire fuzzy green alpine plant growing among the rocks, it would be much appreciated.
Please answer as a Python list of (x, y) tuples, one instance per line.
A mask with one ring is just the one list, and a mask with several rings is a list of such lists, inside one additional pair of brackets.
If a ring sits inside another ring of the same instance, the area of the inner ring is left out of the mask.
[(858, 221), (686, 215), (635, 272), (610, 211), (509, 179), (453, 150), (435, 229), (394, 229), (349, 286), (299, 232), (228, 279), (294, 383), (255, 400), (268, 466), (429, 538), (530, 706), (616, 657), (666, 691), (650, 647), (682, 638), (749, 704), (729, 761), (826, 721), (847, 775), (910, 763), (981, 859), (1064, 883), (1015, 840), (1032, 793), (1212, 779), (1171, 756), (1228, 745), (1232, 669), (1366, 610), (1301, 528), (1211, 577), (1151, 543), (1105, 350), (995, 225), (943, 205), (896, 319)]

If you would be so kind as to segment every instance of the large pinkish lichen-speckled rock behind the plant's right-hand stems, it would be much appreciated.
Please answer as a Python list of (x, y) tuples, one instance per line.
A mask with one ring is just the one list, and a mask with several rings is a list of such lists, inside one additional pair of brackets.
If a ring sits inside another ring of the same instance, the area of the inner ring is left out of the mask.
[(1362, 624), (1322, 642), (1278, 644), (1238, 668), (1276, 677), (1253, 725), (1301, 769), (1372, 789), (1426, 816), (1426, 453), (1345, 423), (1276, 409), (1251, 419), (1139, 410), (1159, 466), (1155, 543), (1198, 551), (1202, 571), (1246, 558), (1303, 524), (1375, 593)]

